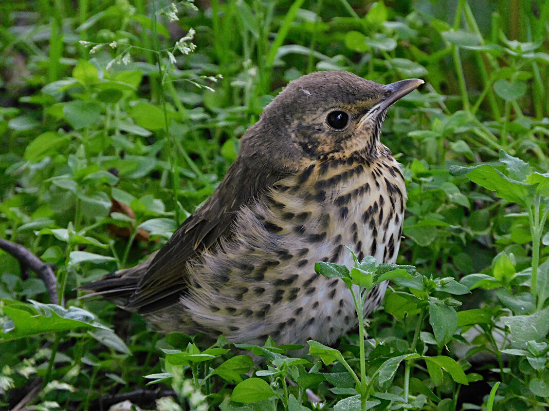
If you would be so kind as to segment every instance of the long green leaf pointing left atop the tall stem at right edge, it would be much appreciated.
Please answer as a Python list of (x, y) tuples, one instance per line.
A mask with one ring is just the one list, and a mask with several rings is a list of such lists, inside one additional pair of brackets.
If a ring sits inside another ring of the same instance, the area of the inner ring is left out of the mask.
[(533, 192), (522, 181), (508, 178), (505, 174), (488, 164), (474, 167), (460, 167), (453, 165), (449, 168), (453, 175), (467, 175), (469, 180), (476, 182), (485, 189), (496, 191), (497, 196), (513, 203), (523, 204), (529, 207), (533, 198)]

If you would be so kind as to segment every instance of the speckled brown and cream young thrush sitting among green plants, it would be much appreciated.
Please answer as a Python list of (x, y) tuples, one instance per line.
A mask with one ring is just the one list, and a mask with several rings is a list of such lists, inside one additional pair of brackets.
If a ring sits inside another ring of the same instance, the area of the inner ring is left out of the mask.
[[(396, 261), (406, 185), (380, 135), (389, 106), (422, 83), (346, 71), (290, 81), (240, 139), (211, 197), (158, 252), (82, 288), (164, 333), (335, 343), (356, 326), (354, 301), (315, 263), (353, 265), (345, 246), (359, 260)], [(386, 286), (369, 291), (365, 315)]]

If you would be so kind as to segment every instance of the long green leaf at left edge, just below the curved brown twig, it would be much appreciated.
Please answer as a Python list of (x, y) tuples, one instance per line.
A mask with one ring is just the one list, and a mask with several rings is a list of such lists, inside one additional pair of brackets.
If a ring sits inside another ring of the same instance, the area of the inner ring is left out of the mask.
[(63, 307), (55, 304), (41, 304), (2, 300), (2, 310), (12, 322), (4, 323), (0, 332), (0, 343), (43, 333), (57, 333), (76, 328), (108, 329), (98, 322), (96, 317), (86, 310)]

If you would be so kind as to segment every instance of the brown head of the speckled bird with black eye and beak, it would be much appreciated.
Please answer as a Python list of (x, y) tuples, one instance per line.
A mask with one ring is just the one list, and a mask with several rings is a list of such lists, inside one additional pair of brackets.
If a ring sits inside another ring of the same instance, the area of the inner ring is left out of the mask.
[(310, 73), (288, 84), (267, 106), (257, 127), (270, 149), (289, 158), (377, 157), (388, 107), (423, 81), (383, 85), (346, 71)]

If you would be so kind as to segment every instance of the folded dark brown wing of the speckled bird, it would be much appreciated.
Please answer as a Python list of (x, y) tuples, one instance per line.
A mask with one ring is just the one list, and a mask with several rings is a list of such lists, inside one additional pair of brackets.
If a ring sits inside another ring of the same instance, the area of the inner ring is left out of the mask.
[[(242, 152), (240, 153), (242, 154)], [(192, 284), (189, 259), (229, 238), (238, 210), (275, 182), (292, 174), (258, 155), (239, 156), (212, 196), (173, 233), (150, 262), (126, 309), (147, 313), (175, 304)]]

